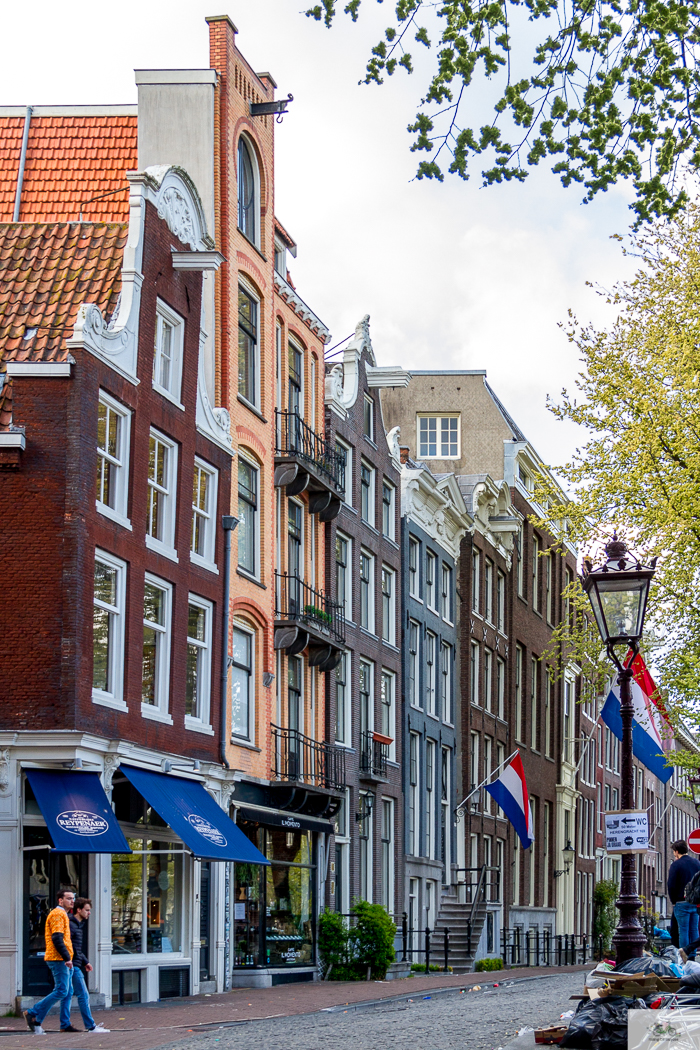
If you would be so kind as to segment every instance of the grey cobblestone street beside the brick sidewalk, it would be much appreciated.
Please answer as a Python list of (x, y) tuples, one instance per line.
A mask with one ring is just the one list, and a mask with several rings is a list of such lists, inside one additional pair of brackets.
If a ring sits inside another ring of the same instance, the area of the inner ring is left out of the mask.
[(412, 1003), (256, 1021), (173, 1044), (177, 1050), (492, 1050), (524, 1025), (551, 1024), (575, 1007), (582, 973)]

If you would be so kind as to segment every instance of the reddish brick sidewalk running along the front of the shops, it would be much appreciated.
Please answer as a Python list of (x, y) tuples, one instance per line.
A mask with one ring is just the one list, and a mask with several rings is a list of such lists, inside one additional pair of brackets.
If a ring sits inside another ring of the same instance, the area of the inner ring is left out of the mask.
[[(110, 1034), (89, 1035), (59, 1032), (58, 1012), (46, 1018), (48, 1034), (33, 1035), (24, 1021), (2, 1018), (0, 1050), (154, 1050), (194, 1033), (211, 1032), (219, 1026), (230, 1027), (247, 1021), (288, 1017), (299, 1013), (316, 1013), (333, 1007), (354, 1008), (355, 1004), (374, 1004), (381, 1000), (403, 996), (424, 996), (439, 989), (468, 990), (473, 985), (491, 988), (516, 978), (537, 978), (548, 973), (585, 973), (588, 966), (537, 966), (528, 969), (499, 970), (491, 973), (466, 973), (462, 976), (405, 978), (401, 981), (310, 982), (309, 984), (277, 985), (274, 988), (236, 988), (220, 995), (193, 995), (189, 999), (166, 1000), (143, 1006), (114, 1007), (94, 1012), (94, 1018), (111, 1029)], [(466, 991), (465, 991), (466, 993)], [(470, 994), (479, 994), (472, 992)], [(73, 1011), (71, 1022), (82, 1027), (80, 1013)], [(17, 1034), (15, 1034), (17, 1033)]]

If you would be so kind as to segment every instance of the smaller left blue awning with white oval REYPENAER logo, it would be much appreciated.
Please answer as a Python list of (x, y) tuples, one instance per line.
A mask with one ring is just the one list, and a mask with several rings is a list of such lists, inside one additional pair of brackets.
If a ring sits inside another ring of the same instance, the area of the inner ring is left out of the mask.
[(26, 770), (59, 853), (131, 853), (97, 773)]

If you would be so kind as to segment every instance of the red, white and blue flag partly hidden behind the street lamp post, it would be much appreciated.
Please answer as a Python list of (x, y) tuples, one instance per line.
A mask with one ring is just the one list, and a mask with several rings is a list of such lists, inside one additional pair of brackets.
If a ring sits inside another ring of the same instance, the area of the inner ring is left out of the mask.
[[(632, 659), (629, 652), (624, 666), (632, 660), (632, 704), (634, 720), (632, 722), (632, 751), (642, 765), (651, 770), (654, 776), (663, 783), (671, 779), (673, 766), (666, 765), (664, 743), (666, 749), (672, 737), (671, 722), (666, 715), (654, 679), (642, 657), (637, 655)], [(622, 739), (622, 718), (620, 716), (620, 687), (615, 684), (608, 693), (608, 699), (602, 706), (600, 717), (618, 740)]]

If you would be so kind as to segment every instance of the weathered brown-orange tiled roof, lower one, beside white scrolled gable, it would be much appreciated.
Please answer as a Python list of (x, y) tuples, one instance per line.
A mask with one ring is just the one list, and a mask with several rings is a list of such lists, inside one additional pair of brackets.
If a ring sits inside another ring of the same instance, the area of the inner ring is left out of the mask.
[(126, 223), (0, 224), (0, 369), (65, 360), (84, 302), (111, 316), (127, 232)]

